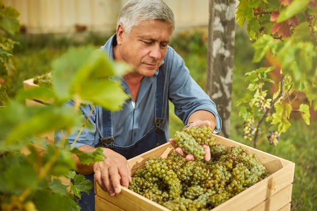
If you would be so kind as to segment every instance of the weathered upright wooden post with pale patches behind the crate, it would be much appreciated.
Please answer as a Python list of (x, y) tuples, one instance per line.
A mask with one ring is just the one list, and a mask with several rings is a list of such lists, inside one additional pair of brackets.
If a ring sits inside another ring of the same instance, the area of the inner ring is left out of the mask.
[(235, 0), (209, 1), (206, 93), (222, 118), (220, 136), (230, 134)]

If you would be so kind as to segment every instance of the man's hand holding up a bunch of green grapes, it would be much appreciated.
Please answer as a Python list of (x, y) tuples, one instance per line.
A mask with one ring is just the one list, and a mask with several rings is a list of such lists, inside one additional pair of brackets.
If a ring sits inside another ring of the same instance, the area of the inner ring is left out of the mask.
[[(209, 120), (199, 120), (199, 121), (194, 121), (192, 123), (190, 123), (190, 125), (188, 125), (188, 128), (191, 126), (202, 126), (202, 125), (207, 125), (207, 126), (211, 126), (211, 122)], [(175, 147), (175, 140), (174, 139), (169, 139), (169, 142), (171, 143), (171, 145), (175, 148), (175, 151), (180, 154), (180, 156), (185, 157), (187, 160), (195, 160), (194, 156), (192, 154), (186, 154), (185, 152), (183, 152), (182, 148), (180, 147)], [(210, 154), (210, 148), (209, 146), (207, 146), (206, 144), (203, 144), (202, 147), (204, 148), (206, 154), (204, 156), (204, 159), (206, 161), (209, 161), (211, 159), (211, 154)]]

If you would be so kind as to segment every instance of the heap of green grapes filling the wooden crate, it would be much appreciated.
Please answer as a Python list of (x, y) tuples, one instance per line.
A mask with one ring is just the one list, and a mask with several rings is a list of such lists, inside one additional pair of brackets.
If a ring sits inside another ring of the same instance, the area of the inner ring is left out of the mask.
[[(198, 141), (199, 144), (211, 144), (210, 161), (186, 160), (175, 150), (166, 158), (152, 157), (145, 162), (144, 168), (135, 172), (129, 189), (170, 210), (205, 211), (269, 175), (256, 155), (247, 153), (242, 147), (228, 149), (216, 144), (211, 131), (204, 132), (202, 127), (186, 131), (200, 130), (205, 138)], [(206, 137), (212, 141), (205, 142)]]

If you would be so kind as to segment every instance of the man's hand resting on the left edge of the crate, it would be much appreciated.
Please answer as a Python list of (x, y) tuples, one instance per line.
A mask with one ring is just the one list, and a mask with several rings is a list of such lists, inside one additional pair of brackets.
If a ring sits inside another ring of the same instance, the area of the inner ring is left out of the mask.
[(104, 191), (114, 196), (121, 192), (121, 185), (128, 188), (132, 181), (131, 169), (124, 156), (108, 148), (103, 150), (104, 160), (94, 163), (95, 180)]

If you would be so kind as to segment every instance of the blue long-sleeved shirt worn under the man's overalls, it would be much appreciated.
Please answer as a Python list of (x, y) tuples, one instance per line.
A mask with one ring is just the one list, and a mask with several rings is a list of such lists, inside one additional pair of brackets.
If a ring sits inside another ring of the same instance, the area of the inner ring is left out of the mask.
[[(107, 51), (109, 59), (113, 59), (113, 43), (116, 43), (116, 35), (114, 34), (100, 49)], [(221, 129), (221, 118), (218, 115), (215, 103), (201, 89), (199, 85), (189, 75), (189, 70), (185, 66), (183, 59), (168, 47), (164, 61), (162, 62), (162, 70), (164, 75), (164, 93), (163, 93), (163, 118), (162, 125), (167, 139), (169, 132), (169, 100), (175, 106), (175, 114), (187, 123), (187, 119), (196, 110), (207, 110), (212, 112), (216, 117), (215, 132)], [(123, 110), (112, 112), (112, 136), (113, 144), (117, 146), (131, 146), (137, 142), (146, 132), (153, 126), (154, 119), (154, 102), (156, 90), (156, 75), (159, 70), (151, 77), (143, 77), (138, 93), (137, 102), (132, 102), (132, 98), (127, 100), (123, 106)], [(126, 81), (122, 78), (122, 87), (131, 96)], [(133, 103), (135, 105), (133, 106)], [(91, 106), (81, 107), (85, 116), (91, 111)], [(85, 129), (75, 147), (89, 145), (99, 147), (99, 138), (102, 137), (102, 108), (95, 106), (90, 117), (90, 123), (93, 129)], [(180, 129), (181, 130), (181, 129)], [(58, 134), (57, 134), (58, 136)], [(70, 144), (76, 138), (76, 134), (68, 137)]]

